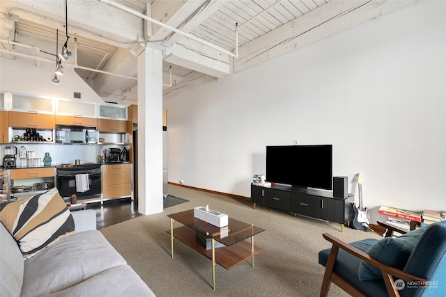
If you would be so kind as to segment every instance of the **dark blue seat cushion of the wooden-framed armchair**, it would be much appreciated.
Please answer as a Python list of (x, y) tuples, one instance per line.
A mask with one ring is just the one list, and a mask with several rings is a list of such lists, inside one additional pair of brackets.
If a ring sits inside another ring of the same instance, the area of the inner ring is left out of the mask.
[[(355, 241), (350, 243), (351, 246), (365, 252), (375, 243), (377, 239), (364, 239), (362, 241)], [(319, 252), (319, 264), (326, 266), (328, 256), (330, 255), (331, 248), (321, 250)], [(342, 278), (353, 284), (354, 287), (360, 289), (367, 296), (387, 296), (387, 290), (383, 280), (360, 280), (358, 276), (358, 269), (360, 266), (360, 259), (349, 254), (348, 252), (339, 249), (337, 255), (337, 262), (334, 265), (333, 271), (340, 275)]]

